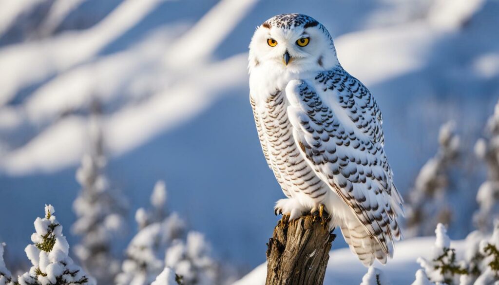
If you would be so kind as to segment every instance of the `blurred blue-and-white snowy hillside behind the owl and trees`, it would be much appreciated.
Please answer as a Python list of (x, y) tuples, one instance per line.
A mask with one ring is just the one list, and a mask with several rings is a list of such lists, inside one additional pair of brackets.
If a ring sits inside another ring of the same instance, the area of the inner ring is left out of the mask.
[(44, 204), (69, 244), (80, 240), (69, 231), (85, 188), (75, 173), (96, 152), (98, 117), (102, 171), (127, 200), (118, 255), (164, 180), (169, 211), (204, 233), (219, 259), (240, 274), (264, 262), (283, 194), (254, 127), (248, 45), (257, 25), (288, 12), (323, 23), (340, 63), (374, 94), (405, 196), (453, 121), (466, 159), (447, 185), (462, 194), (451, 220), (468, 220), (451, 237), (465, 237), (485, 179), (473, 149), (499, 98), (498, 0), (0, 0), (6, 260), (25, 260)]

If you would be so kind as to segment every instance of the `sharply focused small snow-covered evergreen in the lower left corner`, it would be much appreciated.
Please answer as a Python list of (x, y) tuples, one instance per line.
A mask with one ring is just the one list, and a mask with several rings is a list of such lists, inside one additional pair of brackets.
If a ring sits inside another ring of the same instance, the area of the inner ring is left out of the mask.
[(36, 218), (33, 244), (24, 250), (32, 267), (19, 276), (20, 285), (95, 285), (95, 280), (69, 258), (69, 245), (62, 226), (55, 219), (54, 208), (45, 206), (45, 217)]

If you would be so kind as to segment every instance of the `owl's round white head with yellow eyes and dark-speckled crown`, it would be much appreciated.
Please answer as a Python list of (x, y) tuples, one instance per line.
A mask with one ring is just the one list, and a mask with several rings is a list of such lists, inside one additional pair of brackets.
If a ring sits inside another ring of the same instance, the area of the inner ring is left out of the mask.
[(327, 29), (303, 14), (276, 15), (258, 26), (251, 38), (249, 60), (250, 72), (260, 64), (291, 72), (339, 64)]

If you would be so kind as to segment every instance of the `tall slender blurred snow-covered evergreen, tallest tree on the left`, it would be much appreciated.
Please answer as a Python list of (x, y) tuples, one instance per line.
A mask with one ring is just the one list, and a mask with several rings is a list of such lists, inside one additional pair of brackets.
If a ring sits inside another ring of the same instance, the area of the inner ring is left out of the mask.
[(74, 253), (99, 283), (112, 284), (120, 270), (112, 243), (117, 234), (124, 232), (127, 202), (110, 187), (104, 175), (106, 158), (97, 103), (93, 104), (89, 120), (90, 149), (76, 172), (81, 190), (73, 203), (77, 219), (71, 230), (81, 236), (81, 242), (75, 246)]

